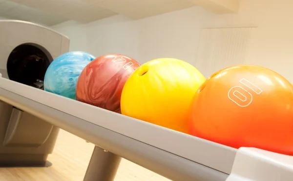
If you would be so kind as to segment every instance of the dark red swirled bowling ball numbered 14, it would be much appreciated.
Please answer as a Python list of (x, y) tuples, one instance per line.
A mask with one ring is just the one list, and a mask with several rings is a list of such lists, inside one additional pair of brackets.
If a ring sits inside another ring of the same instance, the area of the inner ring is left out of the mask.
[(136, 60), (125, 55), (110, 54), (98, 57), (84, 68), (78, 79), (77, 100), (121, 113), (123, 86), (139, 66)]

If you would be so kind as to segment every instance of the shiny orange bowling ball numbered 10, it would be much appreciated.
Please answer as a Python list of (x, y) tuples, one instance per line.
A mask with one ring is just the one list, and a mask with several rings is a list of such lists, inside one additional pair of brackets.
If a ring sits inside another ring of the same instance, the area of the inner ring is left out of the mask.
[(293, 85), (268, 68), (216, 72), (196, 92), (189, 119), (196, 137), (293, 155)]

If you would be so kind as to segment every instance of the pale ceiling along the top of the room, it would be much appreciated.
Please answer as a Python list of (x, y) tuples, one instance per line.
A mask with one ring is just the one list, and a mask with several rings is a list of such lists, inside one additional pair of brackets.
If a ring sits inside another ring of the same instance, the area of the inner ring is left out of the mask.
[[(216, 1), (223, 5), (223, 0), (0, 0), (0, 16), (51, 26), (67, 20), (88, 23), (117, 14), (137, 20), (195, 5), (217, 12)], [(235, 5), (238, 0), (224, 1), (233, 1)], [(227, 9), (227, 4), (224, 5), (221, 7)]]

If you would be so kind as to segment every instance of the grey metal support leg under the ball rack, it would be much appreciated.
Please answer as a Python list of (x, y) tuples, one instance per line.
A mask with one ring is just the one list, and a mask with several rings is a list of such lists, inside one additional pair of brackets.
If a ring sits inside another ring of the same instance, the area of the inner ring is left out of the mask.
[(95, 146), (84, 181), (114, 181), (121, 157)]

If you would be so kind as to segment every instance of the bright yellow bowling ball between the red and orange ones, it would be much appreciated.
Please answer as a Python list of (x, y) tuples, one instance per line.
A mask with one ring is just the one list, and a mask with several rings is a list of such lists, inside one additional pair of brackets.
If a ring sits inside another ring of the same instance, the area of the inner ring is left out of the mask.
[(187, 133), (188, 107), (205, 80), (195, 67), (185, 61), (171, 58), (148, 61), (126, 81), (121, 112)]

